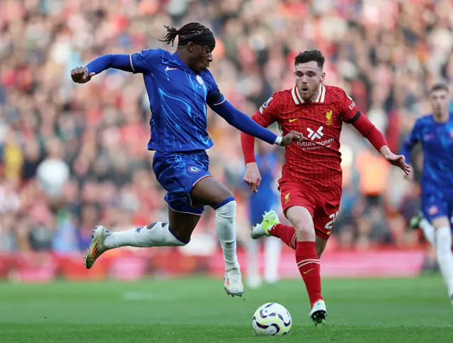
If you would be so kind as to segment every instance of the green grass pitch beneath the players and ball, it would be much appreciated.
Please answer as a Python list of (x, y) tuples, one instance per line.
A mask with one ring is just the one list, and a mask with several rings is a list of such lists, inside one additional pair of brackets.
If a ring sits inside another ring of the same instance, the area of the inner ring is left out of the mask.
[[(328, 318), (309, 320), (302, 280), (226, 296), (207, 278), (127, 283), (0, 283), (0, 342), (453, 342), (453, 306), (440, 277), (326, 279)], [(258, 337), (251, 317), (285, 306), (284, 337)]]

